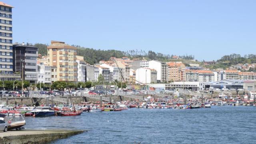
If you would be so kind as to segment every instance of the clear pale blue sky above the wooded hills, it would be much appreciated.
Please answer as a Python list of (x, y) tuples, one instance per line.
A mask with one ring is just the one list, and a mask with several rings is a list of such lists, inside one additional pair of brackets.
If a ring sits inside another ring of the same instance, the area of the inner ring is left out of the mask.
[(216, 60), (256, 51), (256, 0), (3, 0), (13, 42), (153, 50)]

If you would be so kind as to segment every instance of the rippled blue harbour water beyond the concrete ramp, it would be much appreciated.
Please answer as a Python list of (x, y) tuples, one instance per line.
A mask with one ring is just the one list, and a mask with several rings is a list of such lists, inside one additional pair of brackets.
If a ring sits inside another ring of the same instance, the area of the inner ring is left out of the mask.
[(89, 130), (52, 144), (256, 143), (256, 106), (83, 112), (26, 118), (26, 128)]

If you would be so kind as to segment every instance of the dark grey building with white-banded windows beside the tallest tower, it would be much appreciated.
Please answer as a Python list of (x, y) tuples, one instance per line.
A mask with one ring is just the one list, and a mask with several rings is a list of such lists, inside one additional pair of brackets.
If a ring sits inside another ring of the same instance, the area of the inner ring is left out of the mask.
[[(13, 71), (23, 71), (23, 79), (28, 80), (30, 83), (37, 83), (38, 80), (38, 67), (37, 57), (38, 48), (23, 44), (13, 45)], [(23, 63), (23, 68), (22, 68)]]

